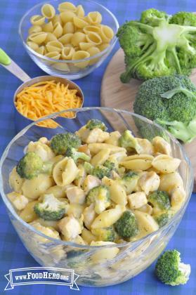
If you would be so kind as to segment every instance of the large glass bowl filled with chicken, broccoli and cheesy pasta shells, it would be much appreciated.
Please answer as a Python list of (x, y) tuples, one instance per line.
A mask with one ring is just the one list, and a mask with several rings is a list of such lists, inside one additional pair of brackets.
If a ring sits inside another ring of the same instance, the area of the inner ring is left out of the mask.
[[(26, 249), (44, 266), (108, 286), (145, 270), (171, 239), (192, 192), (183, 147), (137, 114), (105, 107), (51, 114), (8, 144), (0, 190)], [(143, 136), (141, 136), (143, 134)], [(148, 138), (148, 139), (147, 139)]]

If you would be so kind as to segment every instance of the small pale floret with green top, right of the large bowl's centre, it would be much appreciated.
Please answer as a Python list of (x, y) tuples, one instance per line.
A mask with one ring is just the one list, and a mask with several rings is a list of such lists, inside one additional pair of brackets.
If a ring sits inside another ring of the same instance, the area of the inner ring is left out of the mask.
[(119, 180), (119, 183), (126, 190), (126, 194), (131, 194), (131, 192), (133, 192), (133, 190), (136, 188), (138, 179), (139, 179), (139, 176), (137, 173), (133, 171), (128, 171), (124, 174), (122, 179)]

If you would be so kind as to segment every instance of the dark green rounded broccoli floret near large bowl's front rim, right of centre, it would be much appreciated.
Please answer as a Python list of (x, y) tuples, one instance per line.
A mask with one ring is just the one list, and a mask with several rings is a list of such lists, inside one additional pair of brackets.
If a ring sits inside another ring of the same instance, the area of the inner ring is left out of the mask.
[(115, 230), (123, 239), (134, 237), (138, 234), (138, 222), (136, 216), (129, 210), (124, 211), (115, 223)]

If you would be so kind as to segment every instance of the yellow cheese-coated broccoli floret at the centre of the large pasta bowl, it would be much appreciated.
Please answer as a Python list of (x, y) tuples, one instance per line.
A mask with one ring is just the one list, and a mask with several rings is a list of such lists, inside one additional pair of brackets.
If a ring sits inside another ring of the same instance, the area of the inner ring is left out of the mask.
[(86, 196), (86, 204), (95, 205), (95, 211), (97, 214), (103, 212), (110, 206), (110, 192), (105, 185), (98, 185), (92, 188)]

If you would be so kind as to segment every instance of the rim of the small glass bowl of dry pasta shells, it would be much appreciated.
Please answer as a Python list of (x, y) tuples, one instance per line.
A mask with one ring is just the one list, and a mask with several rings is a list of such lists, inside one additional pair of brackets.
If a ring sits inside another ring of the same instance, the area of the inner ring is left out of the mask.
[[(63, 63), (63, 64), (64, 63), (70, 63), (70, 64), (72, 64), (72, 63), (86, 62), (86, 61), (93, 60), (95, 58), (100, 58), (101, 56), (105, 55), (105, 53), (107, 53), (107, 52), (110, 53), (110, 51), (112, 50), (112, 48), (115, 46), (115, 44), (117, 42), (117, 36), (116, 36), (117, 32), (115, 32), (115, 35), (112, 38), (112, 40), (110, 41), (110, 45), (107, 46), (107, 48), (105, 48), (103, 51), (100, 51), (100, 53), (97, 53), (96, 55), (90, 56), (89, 58), (83, 58), (81, 60), (56, 60), (55, 58), (48, 58), (45, 55), (41, 55), (40, 53), (37, 53), (32, 48), (30, 48), (30, 46), (28, 46), (27, 43), (25, 42), (25, 39), (22, 37), (22, 22), (24, 21), (24, 19), (27, 17), (27, 15), (29, 13), (31, 13), (32, 11), (34, 11), (35, 8), (38, 8), (39, 6), (42, 6), (44, 4), (52, 4), (52, 3), (58, 2), (58, 1), (59, 0), (49, 0), (49, 1), (44, 1), (44, 2), (41, 2), (39, 4), (36, 4), (32, 8), (30, 8), (28, 11), (26, 11), (26, 13), (20, 19), (19, 26), (18, 26), (18, 34), (20, 35), (20, 39), (22, 40), (22, 45), (27, 49), (27, 51), (30, 51), (33, 55), (36, 55), (38, 58), (41, 58), (42, 60), (46, 60), (46, 61), (53, 62), (53, 63)], [(116, 31), (118, 31), (118, 29), (119, 29), (119, 22), (118, 22), (117, 18), (115, 17), (115, 15), (109, 9), (107, 9), (102, 4), (99, 4), (98, 2), (93, 1), (93, 0), (81, 0), (81, 2), (82, 1), (84, 1), (84, 2), (90, 2), (91, 4), (96, 4), (97, 6), (100, 6), (105, 11), (107, 11), (107, 13), (109, 13), (112, 16), (113, 20), (115, 21)]]

